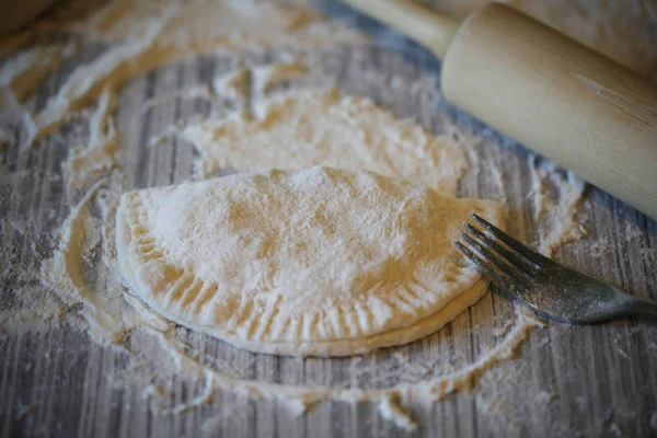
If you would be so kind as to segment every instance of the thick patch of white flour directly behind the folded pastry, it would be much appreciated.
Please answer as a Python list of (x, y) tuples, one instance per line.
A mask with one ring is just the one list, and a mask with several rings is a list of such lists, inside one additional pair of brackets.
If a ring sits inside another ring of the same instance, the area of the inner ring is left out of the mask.
[(366, 97), (312, 90), (276, 96), (266, 105), (261, 118), (234, 114), (182, 130), (182, 138), (201, 152), (199, 176), (226, 168), (264, 171), (322, 164), (369, 170), (454, 196), (468, 169), (463, 151), (451, 139), (396, 120)]

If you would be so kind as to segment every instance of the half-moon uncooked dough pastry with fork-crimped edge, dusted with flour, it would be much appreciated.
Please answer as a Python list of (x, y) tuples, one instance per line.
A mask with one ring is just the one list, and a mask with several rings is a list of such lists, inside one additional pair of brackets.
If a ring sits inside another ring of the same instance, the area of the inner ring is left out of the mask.
[(253, 351), (342, 356), (415, 341), (486, 283), (454, 256), (469, 211), (442, 197), (332, 168), (237, 174), (123, 195), (117, 252), (157, 312)]

